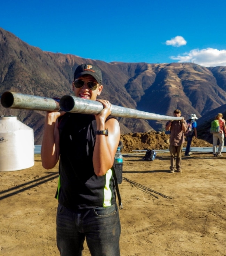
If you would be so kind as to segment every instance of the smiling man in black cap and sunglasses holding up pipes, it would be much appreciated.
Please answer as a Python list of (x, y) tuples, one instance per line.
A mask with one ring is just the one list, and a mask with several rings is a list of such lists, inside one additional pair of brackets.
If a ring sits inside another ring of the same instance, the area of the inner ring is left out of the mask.
[[(93, 64), (74, 72), (76, 97), (96, 101), (103, 89), (102, 73)], [(59, 161), (56, 194), (57, 247), (61, 256), (81, 256), (86, 239), (92, 256), (119, 256), (121, 232), (115, 199), (113, 163), (120, 140), (118, 120), (109, 117), (112, 105), (96, 115), (47, 112), (41, 148), (42, 166)]]

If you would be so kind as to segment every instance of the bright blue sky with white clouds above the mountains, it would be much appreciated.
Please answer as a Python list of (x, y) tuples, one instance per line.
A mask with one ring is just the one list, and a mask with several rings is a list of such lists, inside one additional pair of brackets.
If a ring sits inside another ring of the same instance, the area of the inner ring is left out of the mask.
[(0, 27), (44, 51), (226, 66), (225, 0), (5, 0), (0, 9)]

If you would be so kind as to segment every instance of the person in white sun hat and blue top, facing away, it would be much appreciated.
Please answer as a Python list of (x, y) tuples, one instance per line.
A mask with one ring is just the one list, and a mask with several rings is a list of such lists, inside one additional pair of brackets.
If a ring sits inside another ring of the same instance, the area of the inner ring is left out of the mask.
[[(190, 151), (191, 151), (191, 143), (192, 143), (192, 138), (193, 136), (195, 136), (197, 138), (197, 123), (195, 121), (195, 119), (198, 119), (196, 117), (195, 114), (191, 114), (191, 117), (189, 117), (189, 119), (186, 121), (188, 128), (187, 131), (185, 133), (185, 136), (187, 138), (187, 146), (186, 146), (186, 150), (185, 150), (185, 157), (189, 157), (190, 156)], [(189, 129), (189, 127), (191, 127), (191, 129)]]

